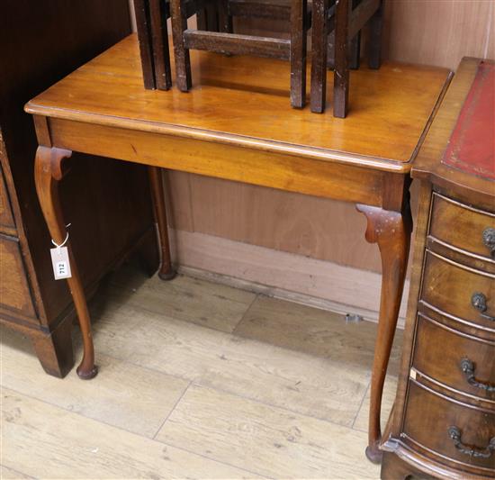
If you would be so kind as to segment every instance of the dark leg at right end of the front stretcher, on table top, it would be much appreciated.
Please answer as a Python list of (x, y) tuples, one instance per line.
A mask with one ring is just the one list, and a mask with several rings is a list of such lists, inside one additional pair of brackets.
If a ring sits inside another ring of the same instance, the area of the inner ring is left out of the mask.
[(291, 7), (291, 105), (306, 104), (307, 0), (295, 0)]

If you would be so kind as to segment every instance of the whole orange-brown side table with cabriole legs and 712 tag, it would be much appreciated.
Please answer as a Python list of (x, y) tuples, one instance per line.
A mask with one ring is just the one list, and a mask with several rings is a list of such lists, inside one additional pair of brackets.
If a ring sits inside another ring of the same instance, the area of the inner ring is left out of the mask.
[[(342, 120), (290, 108), (284, 61), (198, 51), (192, 60), (199, 87), (189, 94), (146, 90), (138, 41), (130, 35), (26, 105), (40, 144), (36, 185), (52, 238), (58, 244), (66, 238), (58, 183), (72, 151), (150, 167), (164, 277), (173, 271), (159, 168), (357, 204), (368, 221), (366, 240), (378, 244), (383, 264), (367, 448), (368, 457), (379, 461), (383, 382), (410, 247), (411, 161), (450, 73), (394, 63), (362, 68), (352, 79), (350, 103), (356, 106)], [(222, 76), (227, 68), (228, 83)], [(263, 78), (252, 75), (260, 69)], [(67, 281), (85, 346), (77, 373), (88, 378), (96, 374), (90, 320), (70, 244), (68, 249), (73, 276)]]

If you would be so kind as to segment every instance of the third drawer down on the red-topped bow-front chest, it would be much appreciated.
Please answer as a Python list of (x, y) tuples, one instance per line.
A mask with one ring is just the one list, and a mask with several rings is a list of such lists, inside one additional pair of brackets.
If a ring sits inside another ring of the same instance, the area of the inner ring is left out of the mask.
[(460, 334), (419, 314), (412, 367), (443, 385), (493, 402), (495, 341)]

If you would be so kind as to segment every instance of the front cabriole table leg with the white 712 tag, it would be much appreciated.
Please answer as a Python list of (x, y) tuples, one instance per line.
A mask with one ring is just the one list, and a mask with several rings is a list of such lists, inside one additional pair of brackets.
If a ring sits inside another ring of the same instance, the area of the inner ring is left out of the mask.
[[(65, 149), (38, 147), (34, 161), (34, 180), (41, 210), (47, 222), (51, 238), (58, 245), (61, 245), (67, 236), (66, 223), (64, 222), (58, 195), (58, 182), (66, 173), (64, 160), (70, 158), (71, 155), (72, 152)], [(94, 366), (91, 320), (85, 301), (85, 291), (70, 241), (67, 241), (66, 246), (72, 271), (72, 277), (67, 278), (67, 284), (76, 306), (77, 318), (83, 336), (84, 354), (81, 364), (77, 367), (77, 375), (80, 378), (89, 379), (98, 373), (97, 367)]]

